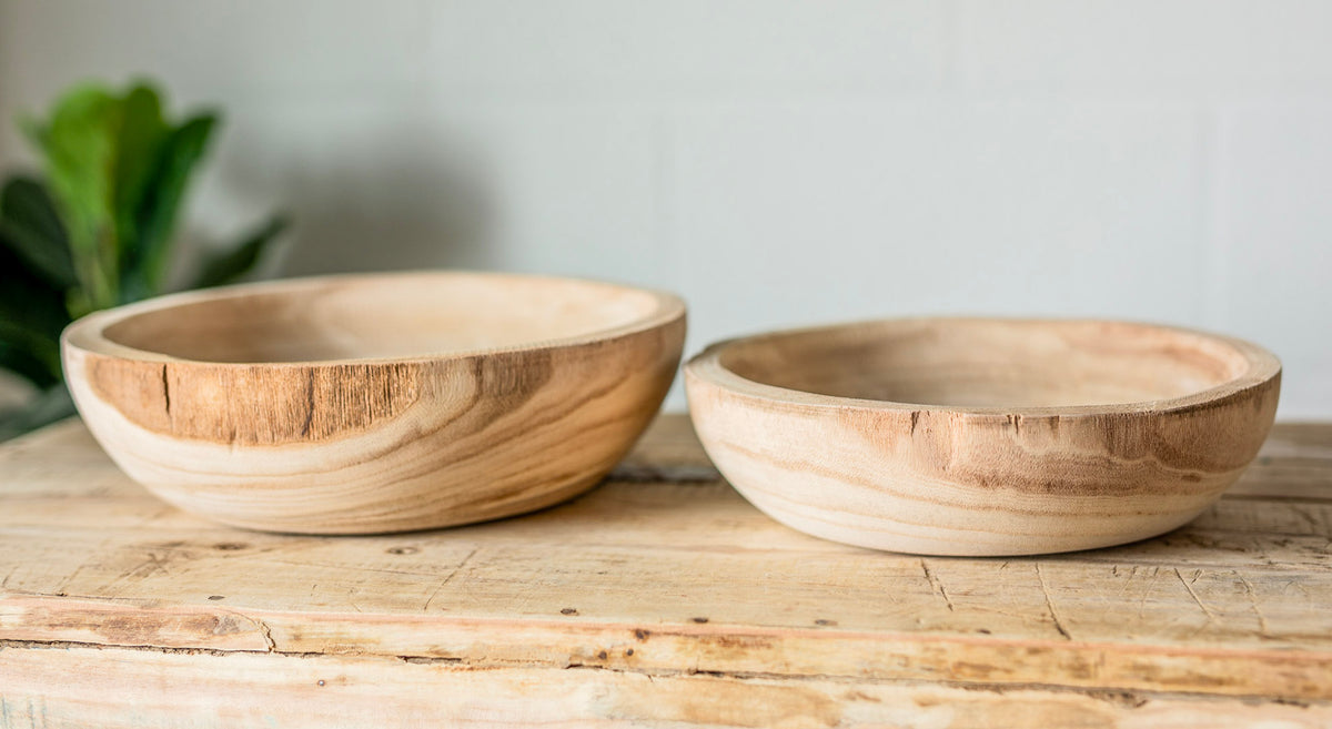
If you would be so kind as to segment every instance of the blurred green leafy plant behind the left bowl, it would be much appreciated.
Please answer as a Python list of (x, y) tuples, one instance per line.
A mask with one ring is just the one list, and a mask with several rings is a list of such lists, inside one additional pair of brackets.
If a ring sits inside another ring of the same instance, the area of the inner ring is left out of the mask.
[[(119, 94), (80, 84), (47, 120), (20, 121), (43, 176), (0, 189), (0, 368), (43, 394), (0, 414), (0, 439), (73, 412), (60, 370), (67, 323), (170, 289), (177, 214), (217, 124), (216, 112), (173, 122), (147, 82)], [(244, 275), (285, 225), (276, 216), (204, 255), (185, 287)]]

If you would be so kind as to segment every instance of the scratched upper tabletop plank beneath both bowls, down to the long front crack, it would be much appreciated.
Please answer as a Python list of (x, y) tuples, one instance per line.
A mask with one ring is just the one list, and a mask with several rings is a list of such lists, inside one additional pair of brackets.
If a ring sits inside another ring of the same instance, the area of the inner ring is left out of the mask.
[(186, 516), (73, 422), (0, 448), (0, 641), (1328, 701), (1332, 428), (1304, 428), (1163, 537), (922, 560), (771, 521), (681, 418), (570, 504), (334, 539)]

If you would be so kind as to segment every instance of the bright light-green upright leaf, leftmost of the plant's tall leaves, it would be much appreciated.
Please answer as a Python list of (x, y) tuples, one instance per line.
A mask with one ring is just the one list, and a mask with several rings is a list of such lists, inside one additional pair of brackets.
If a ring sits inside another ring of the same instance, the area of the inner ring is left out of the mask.
[(45, 133), (47, 178), (65, 223), (75, 273), (95, 307), (116, 303), (119, 242), (115, 216), (116, 140), (124, 104), (83, 84), (63, 96)]

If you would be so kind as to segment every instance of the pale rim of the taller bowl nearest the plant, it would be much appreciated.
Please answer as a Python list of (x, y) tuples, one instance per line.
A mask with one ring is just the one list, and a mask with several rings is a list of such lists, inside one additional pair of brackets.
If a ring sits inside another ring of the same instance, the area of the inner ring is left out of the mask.
[[(418, 355), (409, 355), (409, 357), (352, 357), (352, 358), (337, 358), (337, 359), (300, 359), (300, 361), (282, 361), (282, 362), (264, 362), (264, 361), (221, 362), (216, 359), (194, 359), (186, 357), (174, 357), (160, 351), (147, 350), (141, 347), (132, 347), (116, 342), (105, 335), (107, 329), (120, 322), (128, 321), (133, 317), (139, 317), (141, 314), (149, 314), (153, 311), (169, 310), (192, 303), (240, 298), (250, 294), (268, 294), (268, 293), (284, 293), (284, 291), (300, 293), (302, 289), (317, 289), (334, 282), (350, 282), (350, 283), (384, 282), (384, 281), (406, 279), (406, 278), (438, 278), (438, 279), (480, 278), (490, 281), (509, 281), (515, 283), (523, 283), (523, 282), (575, 283), (575, 285), (586, 285), (595, 287), (606, 287), (619, 291), (646, 294), (653, 299), (654, 306), (646, 314), (637, 317), (626, 323), (611, 327), (595, 329), (571, 337), (533, 339), (530, 342), (522, 342), (518, 345), (509, 345), (502, 347), (444, 350), (436, 353), (422, 353)], [(535, 350), (578, 347), (583, 345), (593, 345), (598, 342), (617, 339), (621, 337), (627, 337), (642, 331), (650, 331), (661, 326), (670, 325), (678, 319), (683, 319), (685, 317), (686, 317), (685, 301), (670, 291), (663, 291), (658, 289), (647, 289), (642, 286), (613, 283), (607, 281), (598, 281), (598, 279), (579, 278), (579, 277), (461, 270), (461, 269), (428, 269), (428, 270), (377, 271), (377, 273), (341, 273), (341, 274), (277, 278), (269, 281), (233, 283), (229, 286), (217, 286), (212, 289), (196, 289), (192, 291), (164, 294), (160, 297), (153, 297), (149, 299), (127, 303), (112, 309), (104, 309), (101, 311), (93, 311), (92, 314), (80, 317), (79, 319), (75, 319), (73, 322), (65, 326), (64, 331), (60, 334), (60, 343), (63, 353), (68, 350), (79, 350), (81, 353), (91, 353), (101, 357), (131, 359), (139, 362), (170, 363), (173, 366), (282, 368), (282, 367), (337, 367), (345, 364), (408, 364), (408, 363), (448, 362), (448, 361), (468, 359), (484, 355), (527, 353)]]

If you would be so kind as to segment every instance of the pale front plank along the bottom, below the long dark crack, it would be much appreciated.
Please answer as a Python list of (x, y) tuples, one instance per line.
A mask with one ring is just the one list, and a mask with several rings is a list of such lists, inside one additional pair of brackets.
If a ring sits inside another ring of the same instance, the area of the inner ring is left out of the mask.
[[(7, 726), (1327, 726), (1327, 702), (589, 666), (7, 648)], [(111, 713), (108, 705), (127, 712)]]

